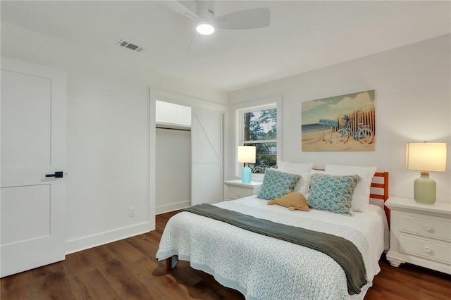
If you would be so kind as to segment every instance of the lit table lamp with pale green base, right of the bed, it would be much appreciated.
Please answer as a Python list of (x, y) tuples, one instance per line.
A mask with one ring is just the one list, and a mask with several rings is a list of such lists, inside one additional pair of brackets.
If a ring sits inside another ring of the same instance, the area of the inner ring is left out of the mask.
[(406, 169), (421, 171), (414, 181), (414, 199), (421, 204), (434, 204), (436, 184), (429, 172), (445, 172), (446, 143), (407, 143)]

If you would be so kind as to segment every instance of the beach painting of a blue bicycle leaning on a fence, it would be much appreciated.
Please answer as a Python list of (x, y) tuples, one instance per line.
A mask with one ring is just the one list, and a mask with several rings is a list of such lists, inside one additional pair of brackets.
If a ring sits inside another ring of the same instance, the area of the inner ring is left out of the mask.
[(374, 151), (374, 90), (302, 102), (302, 151)]

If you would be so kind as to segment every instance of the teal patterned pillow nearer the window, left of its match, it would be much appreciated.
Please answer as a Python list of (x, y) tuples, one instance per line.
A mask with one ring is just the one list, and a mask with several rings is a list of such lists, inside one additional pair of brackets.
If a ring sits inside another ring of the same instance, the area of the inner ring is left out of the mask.
[(287, 189), (293, 191), (297, 182), (301, 179), (300, 175), (280, 172), (266, 169), (263, 183), (257, 197), (261, 199), (273, 200), (287, 194)]

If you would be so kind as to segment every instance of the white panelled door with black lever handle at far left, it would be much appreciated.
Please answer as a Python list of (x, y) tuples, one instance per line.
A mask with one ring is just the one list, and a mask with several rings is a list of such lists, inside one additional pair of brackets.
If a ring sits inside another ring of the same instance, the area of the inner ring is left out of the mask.
[(65, 258), (66, 73), (1, 58), (1, 277)]

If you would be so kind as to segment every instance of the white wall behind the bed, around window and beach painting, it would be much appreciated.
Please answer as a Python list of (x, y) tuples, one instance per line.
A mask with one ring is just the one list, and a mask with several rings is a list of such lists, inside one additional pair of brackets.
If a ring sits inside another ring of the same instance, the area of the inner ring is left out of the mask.
[[(413, 198), (419, 172), (405, 170), (406, 142), (447, 142), (451, 149), (451, 35), (366, 56), (229, 94), (229, 107), (283, 95), (283, 161), (377, 165), (390, 172), (390, 195)], [(302, 58), (299, 58), (302, 59)], [(376, 90), (376, 151), (302, 152), (301, 103), (329, 96)], [(229, 111), (233, 115), (233, 111)], [(233, 154), (233, 133), (229, 154)], [(233, 157), (228, 156), (231, 161)], [(431, 173), (437, 201), (451, 202), (450, 151), (445, 173)], [(229, 170), (228, 177), (233, 177)]]

